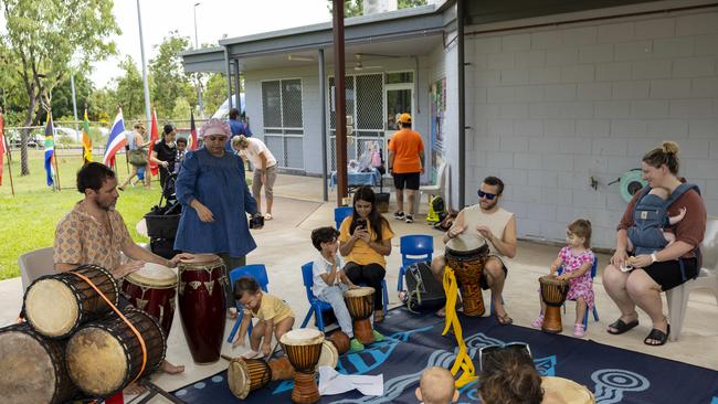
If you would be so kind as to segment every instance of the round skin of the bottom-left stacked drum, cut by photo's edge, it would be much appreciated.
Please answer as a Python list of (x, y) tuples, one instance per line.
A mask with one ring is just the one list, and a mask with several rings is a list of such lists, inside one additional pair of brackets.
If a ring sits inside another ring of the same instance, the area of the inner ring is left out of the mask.
[[(22, 327), (12, 326), (10, 331), (0, 331), (0, 392), (3, 403), (55, 402), (55, 364), (41, 340), (22, 332)], [(62, 361), (62, 358), (54, 360)], [(60, 365), (59, 363), (57, 366)]]

